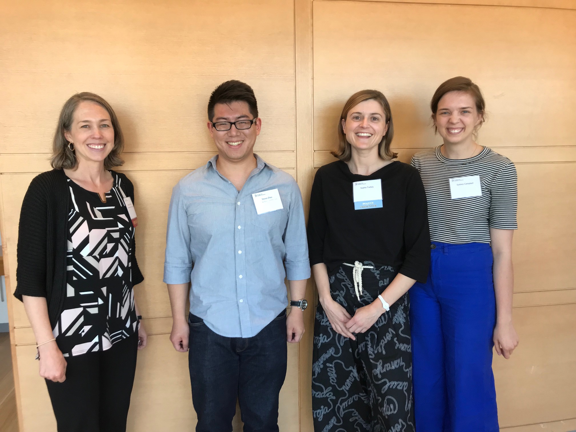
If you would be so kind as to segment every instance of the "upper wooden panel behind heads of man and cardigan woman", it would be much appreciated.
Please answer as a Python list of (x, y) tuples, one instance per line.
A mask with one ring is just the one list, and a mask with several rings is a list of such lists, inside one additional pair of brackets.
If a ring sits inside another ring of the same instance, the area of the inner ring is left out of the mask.
[(27, 0), (2, 9), (0, 114), (27, 126), (2, 131), (2, 152), (46, 151), (60, 107), (78, 91), (115, 107), (130, 151), (214, 150), (207, 97), (231, 78), (258, 96), (256, 149), (294, 149), (293, 1), (245, 0), (233, 13), (225, 0)]

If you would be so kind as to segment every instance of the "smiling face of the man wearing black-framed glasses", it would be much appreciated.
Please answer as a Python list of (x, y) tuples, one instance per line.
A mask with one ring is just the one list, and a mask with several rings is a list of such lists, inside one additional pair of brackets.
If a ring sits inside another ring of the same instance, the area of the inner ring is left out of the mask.
[[(235, 101), (230, 104), (214, 105), (214, 118), (212, 122), (236, 122), (237, 120), (252, 120), (248, 104), (244, 101)], [(257, 118), (249, 129), (238, 130), (232, 126), (228, 131), (217, 131), (211, 122), (208, 122), (210, 135), (218, 149), (218, 157), (230, 162), (238, 162), (253, 157), (252, 150), (256, 137), (260, 134), (262, 120)]]

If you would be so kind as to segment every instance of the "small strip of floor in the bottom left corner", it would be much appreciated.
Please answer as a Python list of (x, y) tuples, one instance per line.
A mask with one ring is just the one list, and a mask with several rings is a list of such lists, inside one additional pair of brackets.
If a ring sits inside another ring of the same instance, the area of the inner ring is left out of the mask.
[(18, 432), (8, 333), (0, 333), (0, 432)]

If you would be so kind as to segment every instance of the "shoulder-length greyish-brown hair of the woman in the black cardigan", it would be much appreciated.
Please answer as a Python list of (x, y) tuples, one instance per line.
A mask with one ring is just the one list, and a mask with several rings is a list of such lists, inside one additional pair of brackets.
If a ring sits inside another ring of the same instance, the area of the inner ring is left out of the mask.
[(69, 143), (64, 136), (64, 132), (70, 132), (74, 120), (74, 112), (81, 102), (96, 103), (108, 111), (108, 115), (110, 116), (112, 129), (114, 130), (114, 147), (112, 147), (112, 151), (104, 159), (104, 168), (110, 169), (115, 166), (123, 165), (124, 161), (120, 158), (120, 153), (122, 153), (122, 150), (124, 149), (124, 135), (122, 134), (118, 118), (110, 104), (105, 101), (103, 97), (89, 92), (74, 94), (74, 96), (71, 96), (62, 107), (60, 117), (58, 118), (58, 124), (56, 125), (54, 141), (52, 141), (52, 157), (50, 158), (50, 165), (55, 169), (74, 169), (78, 164), (74, 150), (70, 150), (68, 147)]

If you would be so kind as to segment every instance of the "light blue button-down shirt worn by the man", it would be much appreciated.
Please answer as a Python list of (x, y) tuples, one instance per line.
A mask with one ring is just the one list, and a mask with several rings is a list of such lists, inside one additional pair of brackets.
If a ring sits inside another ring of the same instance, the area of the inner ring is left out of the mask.
[[(219, 335), (249, 338), (286, 308), (285, 278), (310, 277), (302, 196), (292, 176), (258, 156), (238, 192), (217, 158), (172, 190), (164, 282), (192, 282), (191, 313)], [(257, 214), (252, 194), (276, 188), (284, 208)]]

